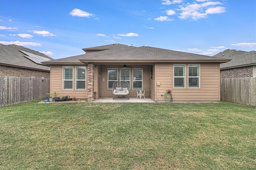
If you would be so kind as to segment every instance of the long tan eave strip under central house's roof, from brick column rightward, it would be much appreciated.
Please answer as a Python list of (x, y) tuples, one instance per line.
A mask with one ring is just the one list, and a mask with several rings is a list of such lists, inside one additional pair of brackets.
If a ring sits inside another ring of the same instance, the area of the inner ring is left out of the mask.
[(94, 63), (94, 64), (143, 64), (143, 63), (226, 63), (231, 60), (140, 60), (140, 61), (130, 61), (130, 60), (80, 60), (82, 63)]

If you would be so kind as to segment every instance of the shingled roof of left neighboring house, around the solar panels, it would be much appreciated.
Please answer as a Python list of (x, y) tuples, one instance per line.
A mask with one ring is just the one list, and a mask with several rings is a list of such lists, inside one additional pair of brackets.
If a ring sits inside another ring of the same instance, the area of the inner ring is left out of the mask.
[(50, 66), (36, 64), (27, 57), (24, 57), (26, 54), (22, 53), (22, 51), (38, 55), (46, 59), (54, 60), (43, 53), (39, 53), (38, 51), (34, 51), (22, 46), (0, 44), (0, 64), (34, 70), (50, 71)]

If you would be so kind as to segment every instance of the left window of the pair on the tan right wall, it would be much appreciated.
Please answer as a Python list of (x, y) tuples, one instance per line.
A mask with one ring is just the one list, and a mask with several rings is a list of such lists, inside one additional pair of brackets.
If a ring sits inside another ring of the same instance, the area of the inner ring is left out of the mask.
[(185, 65), (174, 64), (174, 88), (185, 88)]

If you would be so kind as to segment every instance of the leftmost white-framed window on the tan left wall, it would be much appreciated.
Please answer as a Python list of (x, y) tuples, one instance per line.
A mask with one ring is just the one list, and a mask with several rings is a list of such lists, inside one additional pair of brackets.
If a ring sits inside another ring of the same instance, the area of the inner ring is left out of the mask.
[(63, 67), (63, 89), (73, 90), (73, 66)]

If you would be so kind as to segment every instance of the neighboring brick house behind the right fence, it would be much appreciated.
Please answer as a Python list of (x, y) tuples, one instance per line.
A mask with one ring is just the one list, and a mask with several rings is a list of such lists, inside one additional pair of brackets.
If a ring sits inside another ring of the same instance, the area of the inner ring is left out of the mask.
[(220, 78), (256, 77), (256, 51), (226, 49), (213, 57), (232, 59), (220, 64)]

